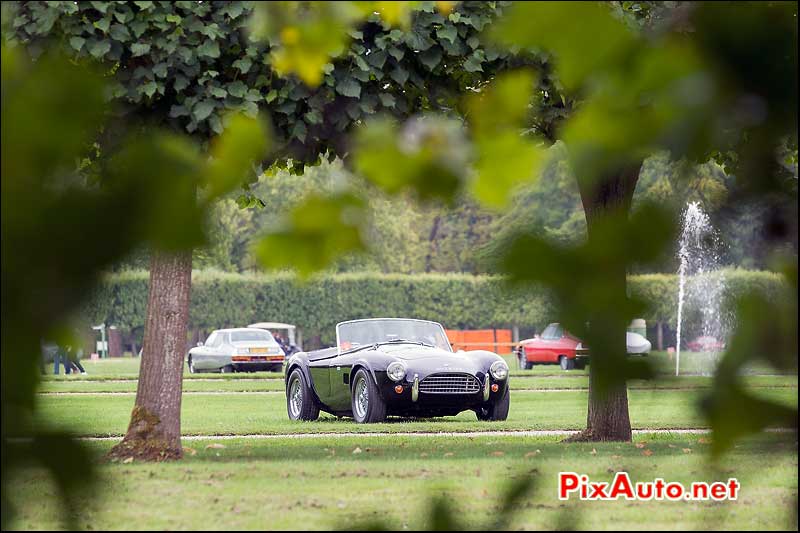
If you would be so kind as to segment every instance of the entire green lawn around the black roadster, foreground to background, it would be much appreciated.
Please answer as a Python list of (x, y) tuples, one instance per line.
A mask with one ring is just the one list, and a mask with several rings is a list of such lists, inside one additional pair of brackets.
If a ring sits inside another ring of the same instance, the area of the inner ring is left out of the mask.
[[(79, 436), (121, 436), (133, 406), (138, 360), (84, 366), (88, 376), (43, 381), (36, 400), (39, 423)], [(180, 462), (103, 463), (102, 454), (115, 441), (87, 442), (97, 457), (99, 482), (81, 500), (78, 525), (350, 529), (383, 520), (393, 529), (428, 528), (431, 501), (441, 497), (462, 527), (479, 529), (490, 527), (503, 488), (516, 477), (532, 476), (534, 490), (513, 509), (511, 529), (796, 528), (791, 512), (797, 502), (795, 434), (752, 438), (715, 463), (708, 456), (709, 436), (639, 434), (633, 444), (565, 444), (562, 437), (502, 433), (584, 427), (585, 371), (537, 366), (514, 372), (509, 418), (499, 423), (479, 422), (471, 412), (370, 425), (324, 414), (317, 422), (291, 422), (281, 377), (187, 374), (182, 432), (201, 438), (184, 440), (186, 457)], [(797, 405), (796, 375), (747, 375), (743, 381), (762, 397)], [(710, 377), (676, 378), (669, 372), (630, 382), (634, 428), (705, 427), (698, 405), (711, 383)], [(436, 435), (468, 431), (494, 434)], [(307, 433), (317, 436), (298, 435)], [(257, 434), (286, 436), (248, 437)], [(215, 440), (223, 435), (233, 438)], [(563, 502), (555, 492), (559, 471), (600, 481), (626, 471), (634, 481), (661, 477), (685, 484), (737, 477), (742, 492), (737, 501), (727, 502)], [(64, 509), (41, 469), (27, 468), (11, 483), (11, 500), (19, 510), (11, 528), (63, 526)]]

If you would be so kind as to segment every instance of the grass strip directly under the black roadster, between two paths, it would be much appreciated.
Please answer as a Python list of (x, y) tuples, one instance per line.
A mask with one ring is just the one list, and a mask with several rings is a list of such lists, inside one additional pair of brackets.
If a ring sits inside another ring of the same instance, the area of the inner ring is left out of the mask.
[[(796, 388), (755, 388), (766, 398), (797, 405)], [(697, 411), (701, 390), (631, 390), (635, 428), (693, 428), (705, 425)], [(134, 395), (39, 395), (42, 419), (80, 435), (121, 435), (127, 428)], [(254, 434), (297, 432), (482, 431), (503, 429), (578, 429), (586, 421), (586, 391), (512, 393), (508, 420), (479, 422), (474, 413), (435, 420), (392, 420), (360, 425), (323, 416), (310, 423), (291, 422), (283, 394), (190, 394), (183, 398), (184, 434)]]

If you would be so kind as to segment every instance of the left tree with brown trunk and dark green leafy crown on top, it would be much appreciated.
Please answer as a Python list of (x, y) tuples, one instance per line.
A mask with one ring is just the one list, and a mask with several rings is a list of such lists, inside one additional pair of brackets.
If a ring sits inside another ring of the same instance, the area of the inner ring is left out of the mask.
[[(264, 162), (289, 164), (297, 171), (322, 155), (344, 153), (343, 132), (363, 117), (376, 111), (408, 116), (447, 108), (506, 61), (478, 39), (495, 14), (491, 4), (464, 6), (454, 18), (426, 6), (413, 21), (407, 6), (394, 17), (380, 3), (375, 11), (383, 15), (373, 12), (370, 3), (357, 8), (347, 3), (275, 4), (259, 5), (268, 16), (251, 24), (252, 2), (20, 2), (10, 39), (34, 55), (56, 44), (104, 63), (113, 76), (112, 94), (123, 124), (155, 123), (188, 132), (205, 148), (225, 129), (226, 113), (255, 116), (261, 110), (275, 139), (275, 150), (264, 154)], [(276, 32), (275, 21), (290, 31)], [(358, 31), (343, 34), (343, 21), (356, 21)], [(318, 37), (314, 43), (321, 43), (322, 55), (305, 46), (306, 31)], [(367, 49), (372, 53), (366, 54)], [(332, 60), (333, 52), (339, 54)], [(276, 75), (293, 68), (302, 79)], [(113, 133), (110, 129), (107, 142), (114, 142)], [(248, 139), (239, 141), (252, 146)], [(228, 187), (240, 175), (219, 179)], [(193, 191), (185, 191), (185, 202), (193, 197)], [(239, 203), (260, 202), (245, 191)], [(311, 261), (320, 255), (320, 239), (329, 230), (329, 221), (320, 220), (305, 241), (314, 248)], [(338, 249), (357, 249), (360, 241), (335, 242)], [(301, 249), (302, 241), (293, 243), (292, 257), (299, 264)], [(191, 255), (153, 253), (150, 272), (136, 406), (112, 455), (160, 460), (182, 453), (180, 391)]]

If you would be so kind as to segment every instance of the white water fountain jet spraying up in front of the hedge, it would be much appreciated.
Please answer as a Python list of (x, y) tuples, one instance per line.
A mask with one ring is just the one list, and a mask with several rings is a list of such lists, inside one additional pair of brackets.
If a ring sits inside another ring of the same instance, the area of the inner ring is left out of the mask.
[[(683, 212), (678, 259), (678, 327), (675, 346), (675, 375), (680, 373), (681, 333), (684, 314), (691, 313), (694, 334), (725, 342), (730, 316), (723, 310), (725, 273), (720, 270), (721, 243), (708, 215), (698, 202), (690, 202)], [(711, 345), (705, 353), (700, 373), (710, 375), (721, 349)], [(700, 354), (697, 354), (700, 357)]]

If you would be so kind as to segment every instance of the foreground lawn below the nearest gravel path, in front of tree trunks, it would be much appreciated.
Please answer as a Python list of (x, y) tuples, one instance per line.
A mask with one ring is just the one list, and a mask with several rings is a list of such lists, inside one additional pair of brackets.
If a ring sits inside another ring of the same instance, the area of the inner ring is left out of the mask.
[[(101, 464), (81, 499), (85, 529), (350, 529), (384, 520), (393, 529), (431, 526), (428, 508), (445, 497), (461, 523), (486, 527), (498, 495), (518, 476), (534, 490), (513, 509), (512, 529), (796, 528), (794, 437), (752, 439), (712, 466), (707, 439), (640, 436), (635, 444), (563, 444), (524, 437), (359, 437), (186, 442), (184, 460)], [(207, 448), (214, 444), (224, 447)], [(111, 443), (91, 443), (97, 454)], [(642, 447), (637, 447), (642, 446)], [(360, 453), (358, 452), (360, 451)], [(356, 452), (356, 453), (354, 453)], [(559, 471), (610, 481), (656, 477), (741, 483), (737, 501), (561, 502)], [(58, 528), (64, 509), (47, 476), (29, 468), (10, 480), (14, 529)], [(73, 509), (75, 511), (75, 509)], [(6, 512), (6, 509), (4, 509)]]

